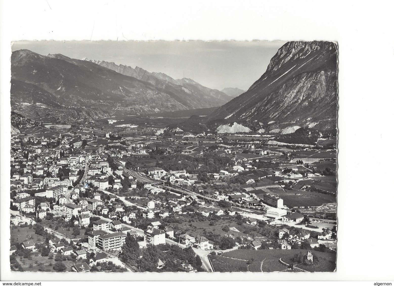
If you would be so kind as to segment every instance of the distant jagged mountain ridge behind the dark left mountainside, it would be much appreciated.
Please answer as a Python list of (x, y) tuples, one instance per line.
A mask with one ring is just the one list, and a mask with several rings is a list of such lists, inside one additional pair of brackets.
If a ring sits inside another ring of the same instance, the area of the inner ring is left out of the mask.
[(221, 106), (231, 100), (231, 98), (223, 92), (204, 87), (191, 79), (175, 80), (166, 74), (151, 73), (138, 66), (132, 68), (131, 66), (116, 65), (115, 63), (106, 61), (96, 61), (86, 58), (83, 60), (104, 66), (120, 74), (149, 82), (157, 89), (164, 90), (167, 94), (170, 94), (175, 100), (187, 106), (189, 109)]

